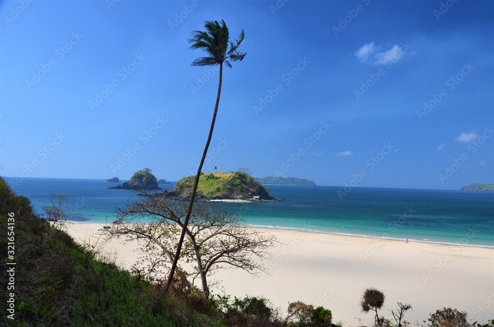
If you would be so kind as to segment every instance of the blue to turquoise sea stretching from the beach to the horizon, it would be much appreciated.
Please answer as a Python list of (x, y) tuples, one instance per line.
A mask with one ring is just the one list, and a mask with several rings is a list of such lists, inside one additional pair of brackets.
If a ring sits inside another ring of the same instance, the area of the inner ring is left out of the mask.
[[(34, 209), (49, 204), (50, 193), (68, 198), (69, 220), (111, 222), (115, 209), (139, 200), (116, 184), (91, 179), (25, 178), (14, 191)], [(160, 185), (172, 188), (174, 184)], [(253, 227), (295, 229), (391, 239), (494, 247), (494, 193), (449, 190), (354, 188), (340, 200), (340, 187), (269, 186), (283, 202), (221, 203)]]

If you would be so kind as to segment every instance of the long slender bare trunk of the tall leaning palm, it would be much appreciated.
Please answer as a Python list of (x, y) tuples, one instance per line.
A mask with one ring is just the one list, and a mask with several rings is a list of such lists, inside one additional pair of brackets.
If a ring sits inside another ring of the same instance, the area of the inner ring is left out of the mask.
[(189, 206), (187, 208), (187, 214), (185, 215), (184, 225), (182, 227), (182, 234), (180, 235), (180, 240), (178, 241), (177, 251), (175, 253), (175, 258), (173, 259), (173, 263), (171, 264), (170, 274), (168, 275), (168, 280), (166, 281), (165, 293), (168, 293), (168, 289), (171, 285), (171, 280), (173, 278), (173, 274), (175, 273), (175, 269), (177, 267), (178, 257), (180, 256), (180, 250), (182, 249), (182, 244), (184, 242), (185, 237), (185, 229), (187, 228), (187, 224), (189, 223), (190, 214), (192, 212), (192, 205), (194, 204), (194, 198), (196, 197), (197, 186), (199, 185), (199, 177), (201, 177), (201, 170), (203, 169), (204, 161), (206, 160), (207, 149), (209, 148), (209, 143), (211, 142), (211, 137), (213, 135), (214, 122), (216, 121), (216, 114), (218, 112), (219, 105), (219, 97), (221, 94), (221, 82), (223, 76), (223, 63), (219, 63), (219, 82), (218, 82), (218, 94), (216, 95), (216, 104), (214, 105), (214, 113), (213, 119), (211, 121), (211, 127), (209, 128), (209, 135), (207, 136), (206, 146), (204, 148), (203, 158), (201, 159), (201, 163), (199, 164), (199, 168), (197, 169), (196, 181), (194, 182), (194, 187), (192, 188), (192, 194), (190, 196)]

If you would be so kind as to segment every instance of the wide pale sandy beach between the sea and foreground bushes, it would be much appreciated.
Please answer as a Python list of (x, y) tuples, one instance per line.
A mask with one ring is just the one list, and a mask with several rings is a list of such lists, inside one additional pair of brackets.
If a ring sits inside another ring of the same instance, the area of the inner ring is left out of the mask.
[[(101, 224), (71, 224), (69, 233), (94, 244), (91, 236)], [(260, 229), (259, 229), (260, 230)], [(371, 313), (360, 312), (359, 301), (367, 287), (384, 292), (381, 314), (392, 319), (397, 302), (412, 304), (405, 319), (422, 323), (443, 307), (466, 311), (472, 320), (494, 319), (494, 249), (381, 240), (284, 230), (260, 230), (285, 245), (273, 248), (265, 264), (269, 275), (251, 277), (238, 269), (220, 271), (226, 294), (262, 295), (286, 310), (288, 302), (303, 301), (332, 311), (344, 326), (371, 325)], [(101, 242), (101, 241), (100, 241)], [(129, 267), (138, 253), (132, 244), (118, 241), (105, 250)], [(213, 293), (220, 293), (212, 289)]]

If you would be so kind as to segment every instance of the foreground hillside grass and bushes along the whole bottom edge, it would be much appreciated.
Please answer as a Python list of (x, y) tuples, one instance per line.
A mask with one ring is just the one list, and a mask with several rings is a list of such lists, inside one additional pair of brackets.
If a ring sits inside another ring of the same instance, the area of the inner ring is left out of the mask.
[[(229, 296), (212, 295), (205, 301), (178, 273), (165, 295), (164, 280), (152, 282), (138, 270), (132, 274), (117, 267), (108, 257), (98, 259), (94, 246), (77, 244), (33, 214), (29, 199), (11, 192), (1, 177), (0, 213), (0, 224), (13, 226), (0, 230), (0, 251), (8, 253), (8, 243), (15, 243), (14, 259), (0, 260), (2, 271), (14, 267), (15, 272), (13, 277), (0, 275), (1, 285), (13, 286), (0, 290), (2, 326), (338, 326), (331, 322), (330, 310), (300, 301), (289, 304), (286, 317), (263, 297), (232, 301)], [(15, 266), (7, 264), (12, 262)], [(9, 293), (15, 293), (12, 309)], [(363, 310), (377, 316), (383, 304), (382, 292), (365, 291)], [(398, 321), (407, 308), (411, 306), (400, 306)], [(494, 320), (484, 325), (469, 321), (465, 312), (443, 308), (430, 315), (428, 325), (420, 326), (494, 327)], [(401, 325), (383, 318), (376, 323)], [(410, 325), (404, 322), (403, 326)]]

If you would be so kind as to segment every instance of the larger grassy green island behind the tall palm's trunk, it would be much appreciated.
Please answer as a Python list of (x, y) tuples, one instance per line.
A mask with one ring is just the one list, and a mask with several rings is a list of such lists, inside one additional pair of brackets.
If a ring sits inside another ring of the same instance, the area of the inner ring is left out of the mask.
[[(195, 176), (177, 182), (169, 197), (190, 198)], [(196, 197), (201, 200), (283, 201), (272, 198), (268, 189), (244, 172), (208, 172), (199, 178)]]

